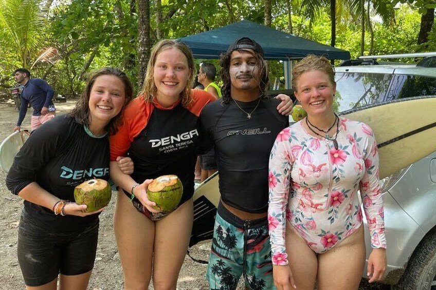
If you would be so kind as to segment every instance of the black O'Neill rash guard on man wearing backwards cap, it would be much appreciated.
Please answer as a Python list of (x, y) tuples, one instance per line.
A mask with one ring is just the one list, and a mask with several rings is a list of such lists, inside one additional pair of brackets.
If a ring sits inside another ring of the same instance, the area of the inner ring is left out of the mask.
[[(238, 104), (251, 112), (258, 102)], [(251, 119), (233, 100), (211, 103), (201, 113), (203, 135), (210, 138), (203, 145), (215, 145), (221, 199), (234, 208), (267, 211), (269, 153), (277, 134), (289, 124), (288, 117), (277, 111), (279, 103), (276, 99), (261, 100)]]

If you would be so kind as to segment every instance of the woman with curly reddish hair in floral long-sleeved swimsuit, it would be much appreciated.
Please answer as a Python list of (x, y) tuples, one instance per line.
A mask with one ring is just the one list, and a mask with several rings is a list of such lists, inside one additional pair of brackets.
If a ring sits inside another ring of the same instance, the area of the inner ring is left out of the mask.
[(357, 289), (365, 264), (359, 189), (373, 248), (370, 282), (386, 268), (377, 143), (364, 123), (332, 108), (334, 70), (310, 55), (293, 71), (307, 117), (284, 129), (269, 162), (269, 233), (278, 289)]

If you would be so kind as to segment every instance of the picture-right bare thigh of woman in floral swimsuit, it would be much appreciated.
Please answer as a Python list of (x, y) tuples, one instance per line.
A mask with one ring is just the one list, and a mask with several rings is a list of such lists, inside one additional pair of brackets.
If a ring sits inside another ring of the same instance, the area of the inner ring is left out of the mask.
[(364, 228), (360, 226), (337, 247), (318, 256), (318, 289), (358, 289), (364, 266)]

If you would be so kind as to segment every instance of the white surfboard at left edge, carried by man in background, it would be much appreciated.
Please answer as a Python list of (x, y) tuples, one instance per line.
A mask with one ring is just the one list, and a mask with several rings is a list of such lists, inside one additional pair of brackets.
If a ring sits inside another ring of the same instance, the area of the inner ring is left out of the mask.
[(3, 140), (0, 145), (0, 167), (3, 171), (9, 172), (16, 153), (20, 151), (28, 137), (29, 132), (27, 131), (15, 131)]

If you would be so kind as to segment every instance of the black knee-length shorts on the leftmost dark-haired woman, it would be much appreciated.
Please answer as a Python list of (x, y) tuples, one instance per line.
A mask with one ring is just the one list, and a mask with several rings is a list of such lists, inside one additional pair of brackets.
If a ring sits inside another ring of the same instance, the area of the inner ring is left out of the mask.
[(27, 286), (41, 286), (62, 275), (94, 267), (99, 220), (80, 231), (50, 230), (23, 210), (18, 231), (18, 262)]

